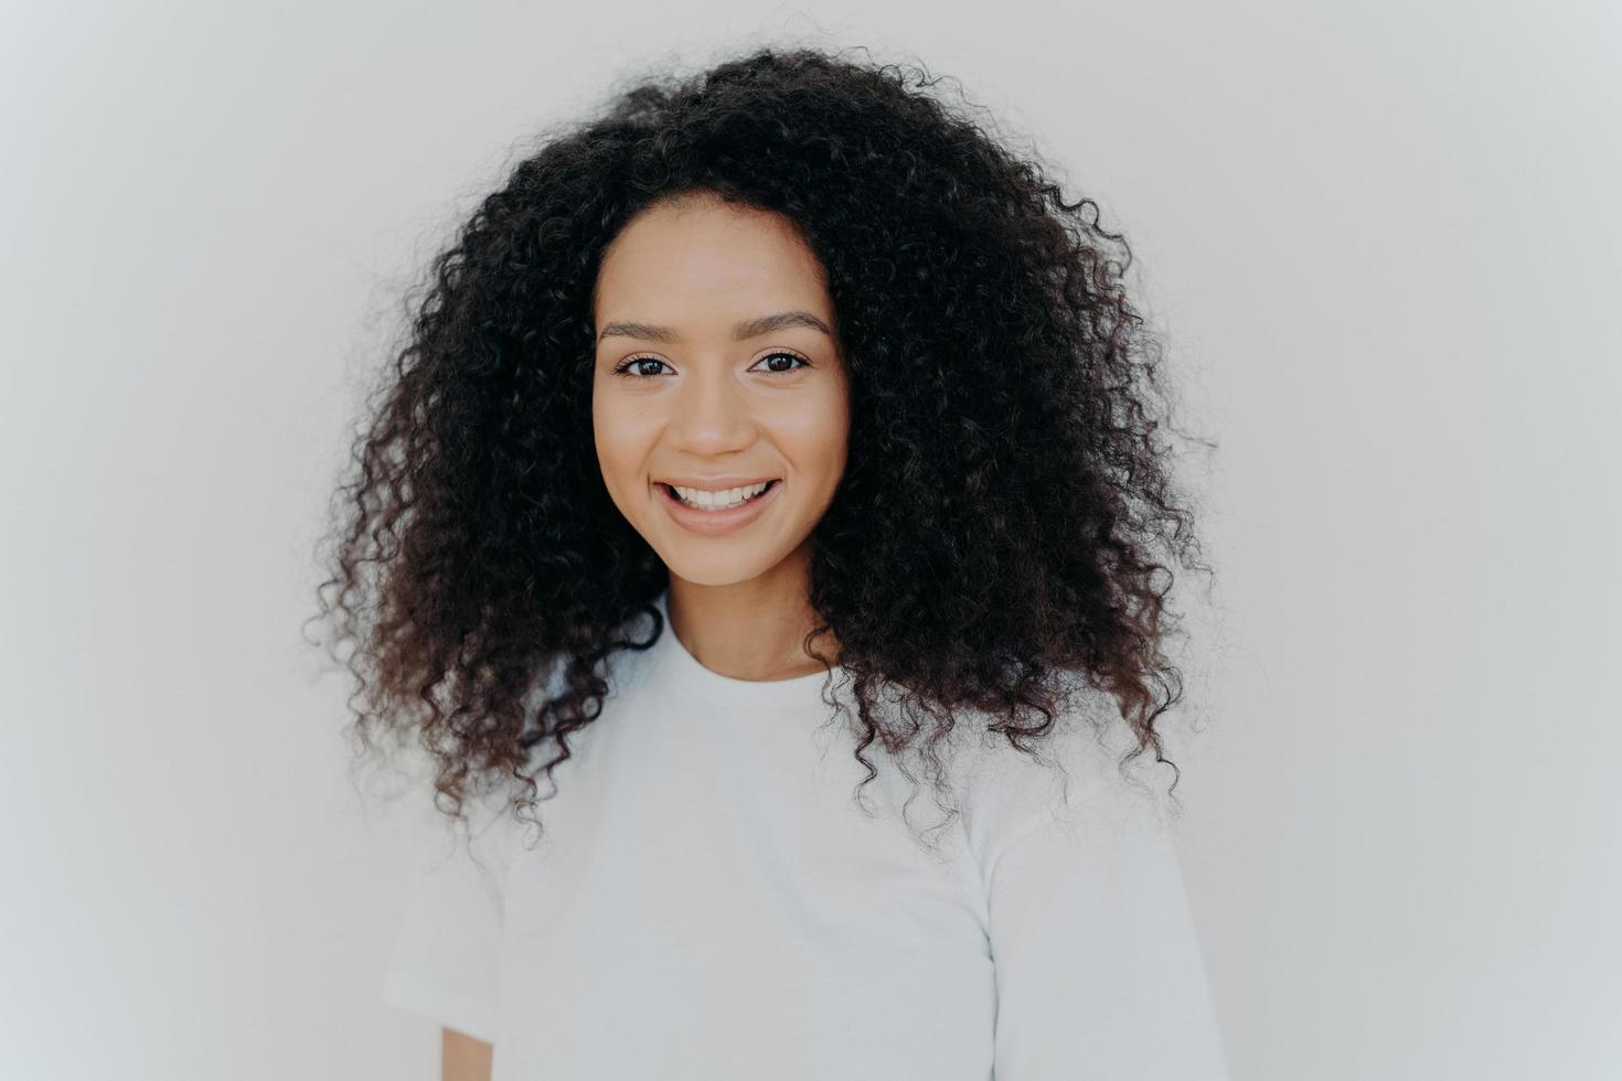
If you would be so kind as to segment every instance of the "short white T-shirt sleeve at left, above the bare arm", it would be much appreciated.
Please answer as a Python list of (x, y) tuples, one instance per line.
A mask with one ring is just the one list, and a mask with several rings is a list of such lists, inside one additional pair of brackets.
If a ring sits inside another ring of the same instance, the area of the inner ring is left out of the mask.
[(470, 841), (459, 823), (430, 835), (401, 899), (383, 1000), (493, 1044), (511, 830), (469, 828)]

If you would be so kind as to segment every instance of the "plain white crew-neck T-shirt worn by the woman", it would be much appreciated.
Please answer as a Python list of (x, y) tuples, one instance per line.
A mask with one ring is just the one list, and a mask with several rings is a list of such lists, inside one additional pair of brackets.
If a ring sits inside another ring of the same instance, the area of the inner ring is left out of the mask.
[(491, 1042), (493, 1081), (1228, 1078), (1165, 784), (1121, 778), (1126, 744), (1049, 737), (1067, 802), (963, 744), (931, 833), (923, 763), (915, 789), (879, 742), (853, 802), (824, 673), (722, 676), (668, 617), (611, 664), (540, 840), (504, 810), (456, 835), (396, 925), (384, 1002)]

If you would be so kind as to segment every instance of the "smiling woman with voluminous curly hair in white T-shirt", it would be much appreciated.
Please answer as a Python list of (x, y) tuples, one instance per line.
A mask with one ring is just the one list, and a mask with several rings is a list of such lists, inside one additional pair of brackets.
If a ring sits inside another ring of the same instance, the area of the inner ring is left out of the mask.
[(1126, 245), (908, 78), (650, 81), (435, 264), (323, 611), (496, 810), (384, 985), (446, 1076), (1226, 1076), (1114, 768), (1197, 548)]

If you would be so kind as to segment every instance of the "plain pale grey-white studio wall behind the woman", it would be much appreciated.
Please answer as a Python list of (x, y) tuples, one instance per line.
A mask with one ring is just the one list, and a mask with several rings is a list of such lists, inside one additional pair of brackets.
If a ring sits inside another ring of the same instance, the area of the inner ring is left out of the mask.
[(438, 1076), (300, 637), (355, 387), (540, 123), (767, 41), (962, 79), (1134, 246), (1220, 442), (1234, 1078), (1622, 1076), (1619, 11), (6, 5), (0, 1076)]

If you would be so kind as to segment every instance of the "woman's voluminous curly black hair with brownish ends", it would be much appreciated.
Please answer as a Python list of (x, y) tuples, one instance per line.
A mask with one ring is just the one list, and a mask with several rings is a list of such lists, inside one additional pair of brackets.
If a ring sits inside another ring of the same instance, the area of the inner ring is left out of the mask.
[[(865, 750), (897, 754), (925, 720), (938, 793), (934, 746), (970, 713), (1040, 760), (1087, 687), (1131, 724), (1127, 758), (1169, 765), (1155, 721), (1182, 687), (1156, 553), (1210, 567), (1156, 438), (1163, 347), (1127, 300), (1131, 251), (936, 83), (772, 47), (647, 76), (545, 133), (436, 256), (368, 399), (318, 596), (334, 656), (357, 647), (354, 731), (368, 749), (371, 728), (415, 733), (453, 817), (506, 778), (532, 809), (600, 713), (600, 663), (652, 643), (626, 627), (652, 613), (662, 632), (668, 570), (592, 452), (592, 292), (615, 235), (689, 193), (787, 216), (826, 269), (852, 413), (806, 648), (832, 630), (853, 677), (858, 796)], [(897, 713), (881, 686), (903, 689)]]

